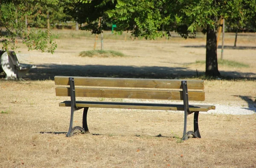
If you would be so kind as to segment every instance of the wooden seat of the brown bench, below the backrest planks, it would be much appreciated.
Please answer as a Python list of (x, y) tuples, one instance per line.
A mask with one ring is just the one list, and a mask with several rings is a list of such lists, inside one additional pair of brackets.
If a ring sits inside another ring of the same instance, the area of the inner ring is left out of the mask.
[[(70, 107), (70, 101), (59, 103), (59, 106)], [(77, 101), (77, 107), (94, 107), (94, 108), (131, 108), (131, 109), (148, 109), (148, 110), (174, 110), (184, 111), (181, 104), (162, 104), (162, 103), (122, 103), (122, 102), (90, 102)], [(214, 105), (189, 105), (190, 111), (209, 111), (215, 109)]]

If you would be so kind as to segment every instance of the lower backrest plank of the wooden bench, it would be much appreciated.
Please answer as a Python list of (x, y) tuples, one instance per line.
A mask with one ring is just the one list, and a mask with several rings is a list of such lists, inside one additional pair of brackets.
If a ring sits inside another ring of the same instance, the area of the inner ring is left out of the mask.
[[(70, 88), (57, 87), (56, 96), (70, 96)], [(158, 100), (183, 100), (182, 91), (166, 90), (136, 90), (136, 89), (108, 89), (108, 88), (76, 88), (76, 97), (108, 97), (131, 99), (158, 99)], [(189, 100), (204, 101), (202, 91), (189, 91)]]

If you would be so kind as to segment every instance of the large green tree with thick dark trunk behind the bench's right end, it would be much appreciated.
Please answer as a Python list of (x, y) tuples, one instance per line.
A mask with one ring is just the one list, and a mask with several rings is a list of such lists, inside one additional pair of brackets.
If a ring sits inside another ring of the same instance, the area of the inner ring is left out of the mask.
[[(160, 30), (177, 31), (182, 37), (195, 37), (196, 27), (207, 34), (207, 76), (220, 76), (217, 62), (217, 29), (226, 20), (253, 20), (256, 0), (117, 0), (116, 8), (107, 11), (118, 25), (135, 36), (154, 39)], [(168, 34), (168, 33), (167, 33)]]

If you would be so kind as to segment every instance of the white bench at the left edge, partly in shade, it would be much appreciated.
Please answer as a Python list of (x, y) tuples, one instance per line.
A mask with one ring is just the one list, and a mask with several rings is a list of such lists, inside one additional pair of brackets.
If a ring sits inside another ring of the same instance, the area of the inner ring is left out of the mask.
[(19, 63), (14, 51), (0, 50), (0, 72), (4, 71), (5, 79), (20, 79), (31, 68), (36, 68), (36, 65)]

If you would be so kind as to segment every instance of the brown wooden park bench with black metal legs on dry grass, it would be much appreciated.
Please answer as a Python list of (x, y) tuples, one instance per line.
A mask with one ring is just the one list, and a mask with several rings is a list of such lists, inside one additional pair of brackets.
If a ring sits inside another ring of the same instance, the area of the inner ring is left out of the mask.
[[(189, 100), (205, 100), (203, 80), (185, 81), (55, 76), (55, 85), (58, 85), (55, 88), (56, 96), (65, 96), (71, 98), (71, 101), (59, 103), (59, 106), (71, 107), (70, 127), (66, 135), (67, 137), (72, 136), (76, 131), (89, 132), (87, 127), (88, 108), (130, 108), (184, 111), (184, 129), (182, 140), (187, 140), (190, 135), (201, 138), (198, 129), (199, 111), (209, 111), (211, 109), (215, 109), (214, 105), (189, 104)], [(191, 89), (192, 91), (190, 91)], [(183, 100), (183, 104), (76, 101), (76, 97)], [(81, 108), (84, 108), (83, 125), (82, 127), (76, 126), (73, 128), (74, 111)], [(194, 113), (194, 131), (187, 132), (187, 116), (192, 113)]]

